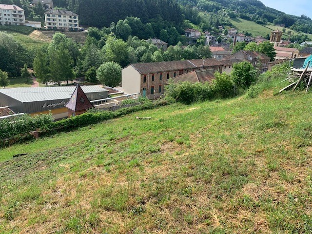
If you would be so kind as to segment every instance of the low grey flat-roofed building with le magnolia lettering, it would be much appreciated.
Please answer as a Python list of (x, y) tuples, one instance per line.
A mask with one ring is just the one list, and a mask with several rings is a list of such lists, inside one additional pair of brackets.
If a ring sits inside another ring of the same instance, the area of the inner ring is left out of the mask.
[[(98, 86), (81, 88), (90, 101), (108, 96), (108, 90)], [(0, 107), (9, 107), (15, 114), (36, 115), (51, 111), (55, 119), (64, 118), (68, 116), (65, 105), (75, 89), (75, 86), (0, 89)]]

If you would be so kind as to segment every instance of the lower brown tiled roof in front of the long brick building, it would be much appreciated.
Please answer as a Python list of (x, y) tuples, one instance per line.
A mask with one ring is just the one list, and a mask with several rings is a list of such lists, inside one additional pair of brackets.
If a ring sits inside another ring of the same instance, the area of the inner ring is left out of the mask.
[[(197, 70), (192, 71), (189, 73), (182, 74), (175, 78), (172, 78), (174, 83), (181, 83), (181, 82), (191, 82), (191, 83), (206, 83), (212, 82), (215, 79), (215, 73), (218, 72), (215, 69), (206, 69), (206, 70)], [(219, 73), (219, 72), (218, 72)], [(164, 84), (168, 84), (168, 80), (163, 81)]]

